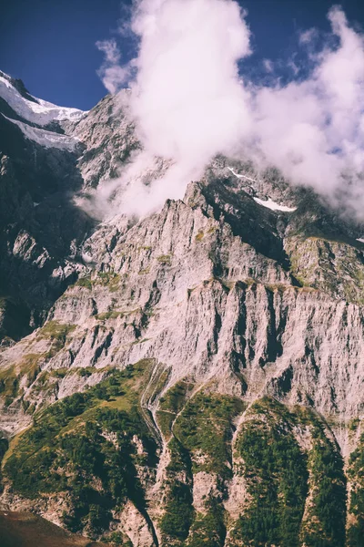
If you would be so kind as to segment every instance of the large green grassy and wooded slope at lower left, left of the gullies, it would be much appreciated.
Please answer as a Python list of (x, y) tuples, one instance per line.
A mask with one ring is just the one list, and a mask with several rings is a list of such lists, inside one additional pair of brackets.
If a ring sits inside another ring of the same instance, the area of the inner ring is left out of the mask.
[[(153, 467), (157, 448), (139, 408), (138, 387), (148, 365), (146, 360), (114, 371), (96, 387), (35, 415), (34, 427), (5, 462), (13, 489), (28, 498), (69, 492), (72, 511), (64, 522), (72, 532), (105, 530), (110, 511), (126, 498), (144, 510), (136, 464)], [(143, 443), (142, 456), (134, 436)]]

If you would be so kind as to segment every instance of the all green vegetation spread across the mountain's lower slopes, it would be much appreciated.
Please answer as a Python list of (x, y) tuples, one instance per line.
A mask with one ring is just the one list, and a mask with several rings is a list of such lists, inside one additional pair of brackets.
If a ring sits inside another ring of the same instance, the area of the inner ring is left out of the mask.
[[(72, 325), (53, 322), (45, 326), (42, 335), (55, 344), (58, 340), (63, 344), (72, 332)], [(39, 356), (25, 357), (22, 366), (26, 363), (31, 381), (38, 374)], [(13, 388), (13, 372), (6, 389)], [(92, 366), (69, 372), (64, 368), (40, 373), (36, 379), (41, 384), (43, 376), (46, 381), (55, 375), (95, 372)], [(113, 511), (120, 511), (126, 500), (147, 514), (139, 476), (144, 468), (149, 476), (155, 472), (157, 444), (144, 405), (156, 400), (167, 385), (170, 370), (146, 359), (123, 371), (106, 367), (105, 374), (106, 379), (96, 387), (37, 412), (34, 426), (13, 439), (9, 449), (5, 439), (0, 439), (0, 459), (5, 454), (3, 473), (13, 490), (26, 498), (70, 501), (70, 511), (63, 515), (65, 526), (94, 538), (108, 531)], [(238, 397), (207, 389), (193, 395), (195, 388), (185, 379), (159, 400), (157, 423), (169, 440), (170, 452), (159, 522), (162, 544), (222, 547), (227, 534), (222, 501), (227, 492), (225, 481), (232, 476), (234, 419), (246, 407)], [(355, 432), (359, 420), (348, 427)], [(230, 546), (344, 546), (343, 462), (313, 411), (288, 408), (268, 397), (260, 399), (247, 410), (235, 456), (234, 472), (244, 476), (248, 495), (229, 533)], [(215, 488), (207, 497), (205, 511), (196, 512), (192, 488), (199, 471), (214, 476)], [(348, 476), (347, 545), (359, 547), (364, 532), (364, 436), (350, 456)], [(130, 547), (120, 532), (107, 532), (104, 540)]]

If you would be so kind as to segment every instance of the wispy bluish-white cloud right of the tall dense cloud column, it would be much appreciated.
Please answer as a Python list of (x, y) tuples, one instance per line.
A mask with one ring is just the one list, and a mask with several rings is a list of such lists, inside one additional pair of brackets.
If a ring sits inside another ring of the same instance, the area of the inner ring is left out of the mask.
[[(329, 20), (339, 46), (317, 56), (307, 80), (256, 90), (255, 134), (265, 161), (338, 201), (343, 192), (358, 191), (364, 169), (364, 41), (339, 8)], [(349, 173), (350, 187), (343, 178)], [(349, 201), (347, 195), (342, 206), (352, 206)]]

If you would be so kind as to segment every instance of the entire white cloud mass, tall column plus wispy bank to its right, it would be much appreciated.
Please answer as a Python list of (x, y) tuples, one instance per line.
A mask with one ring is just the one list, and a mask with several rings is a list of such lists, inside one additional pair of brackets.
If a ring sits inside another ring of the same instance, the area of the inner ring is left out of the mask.
[[(332, 34), (319, 52), (317, 32), (301, 35), (312, 70), (286, 85), (244, 77), (250, 30), (234, 0), (139, 0), (130, 23), (138, 55), (120, 64), (114, 41), (101, 77), (115, 93), (129, 85), (130, 109), (144, 151), (113, 182), (120, 212), (146, 214), (181, 198), (217, 153), (243, 155), (260, 168), (274, 165), (336, 205), (364, 217), (364, 37), (339, 7), (329, 11)], [(253, 29), (254, 30), (254, 29)], [(273, 79), (272, 79), (273, 78)], [(164, 158), (161, 169), (160, 161)], [(137, 173), (155, 170), (146, 180)]]

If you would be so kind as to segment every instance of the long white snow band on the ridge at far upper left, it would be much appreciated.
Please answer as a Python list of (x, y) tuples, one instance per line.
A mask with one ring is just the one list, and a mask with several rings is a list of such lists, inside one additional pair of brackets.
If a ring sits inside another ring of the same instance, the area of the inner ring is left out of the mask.
[(57, 107), (41, 98), (35, 97), (37, 102), (28, 100), (2, 76), (0, 76), (0, 97), (5, 99), (9, 107), (15, 110), (16, 114), (40, 126), (47, 125), (55, 120), (61, 121), (62, 119), (78, 121), (86, 114), (86, 112), (78, 108)]

